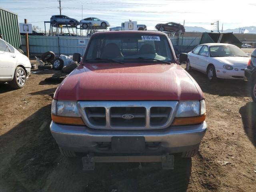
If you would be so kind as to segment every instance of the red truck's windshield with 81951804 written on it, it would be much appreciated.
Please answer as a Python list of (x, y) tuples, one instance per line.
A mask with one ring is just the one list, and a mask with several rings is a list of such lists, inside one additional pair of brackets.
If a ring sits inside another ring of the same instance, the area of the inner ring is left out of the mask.
[[(101, 60), (99, 59), (101, 58)], [(145, 58), (145, 59), (143, 59)], [(88, 44), (87, 62), (174, 62), (170, 44), (165, 35), (145, 33), (98, 34)]]

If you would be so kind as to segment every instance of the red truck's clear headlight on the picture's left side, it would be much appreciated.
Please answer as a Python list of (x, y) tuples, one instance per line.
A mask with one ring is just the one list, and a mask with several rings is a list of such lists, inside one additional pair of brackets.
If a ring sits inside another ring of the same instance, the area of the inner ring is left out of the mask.
[(80, 117), (76, 101), (58, 101), (56, 112), (58, 116)]

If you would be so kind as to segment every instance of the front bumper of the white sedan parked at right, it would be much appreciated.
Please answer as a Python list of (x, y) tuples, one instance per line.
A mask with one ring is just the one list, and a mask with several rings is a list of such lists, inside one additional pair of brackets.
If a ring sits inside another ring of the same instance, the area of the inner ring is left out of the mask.
[(216, 68), (216, 76), (221, 79), (246, 79), (244, 69), (246, 66), (234, 67), (232, 70), (224, 68)]

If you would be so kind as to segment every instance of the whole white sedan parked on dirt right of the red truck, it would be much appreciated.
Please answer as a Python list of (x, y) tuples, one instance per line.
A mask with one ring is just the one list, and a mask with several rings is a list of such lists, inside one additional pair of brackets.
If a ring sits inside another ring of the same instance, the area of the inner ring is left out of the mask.
[(222, 79), (246, 79), (244, 69), (250, 58), (240, 48), (231, 44), (201, 44), (188, 53), (186, 70), (198, 70), (207, 74), (210, 81)]

